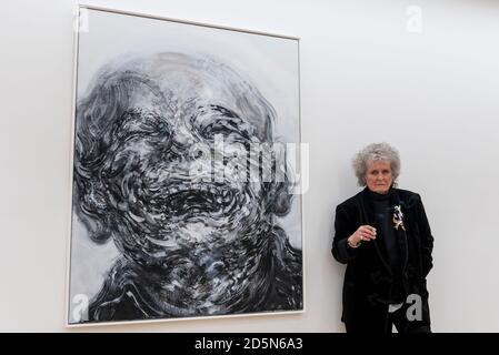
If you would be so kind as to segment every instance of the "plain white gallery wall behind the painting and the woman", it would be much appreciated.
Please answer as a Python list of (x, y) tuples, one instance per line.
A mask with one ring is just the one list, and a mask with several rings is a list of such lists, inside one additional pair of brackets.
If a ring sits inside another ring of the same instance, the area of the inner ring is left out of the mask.
[(353, 153), (387, 141), (422, 195), (435, 244), (436, 332), (499, 332), (499, 2), (87, 1), (300, 38), (306, 312), (64, 327), (77, 1), (0, 12), (0, 331), (343, 332), (335, 206)]

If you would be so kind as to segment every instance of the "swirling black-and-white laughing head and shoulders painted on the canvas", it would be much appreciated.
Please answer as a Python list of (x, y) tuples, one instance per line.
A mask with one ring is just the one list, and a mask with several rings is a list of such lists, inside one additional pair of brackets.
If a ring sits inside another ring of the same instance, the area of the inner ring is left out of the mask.
[[(231, 161), (272, 143), (259, 91), (177, 53), (113, 63), (91, 87), (78, 105), (74, 203), (91, 239), (112, 237), (123, 258), (90, 321), (300, 308), (301, 253), (275, 221), (289, 212), (288, 181), (247, 179), (248, 160)], [(288, 295), (273, 290), (280, 274)]]

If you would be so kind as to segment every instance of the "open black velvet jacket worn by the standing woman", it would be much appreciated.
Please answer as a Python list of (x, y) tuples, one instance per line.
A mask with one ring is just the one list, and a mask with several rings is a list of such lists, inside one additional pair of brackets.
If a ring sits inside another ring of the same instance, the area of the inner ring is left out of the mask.
[[(390, 206), (393, 205), (400, 205), (403, 213), (406, 231), (399, 234), (402, 235), (399, 243), (406, 296), (421, 296), (422, 321), (416, 322), (418, 325), (429, 325), (426, 277), (432, 267), (433, 237), (430, 225), (419, 194), (391, 189)], [(347, 244), (347, 239), (366, 224), (377, 227), (367, 187), (337, 206), (331, 252), (338, 262), (347, 264), (341, 321), (347, 325), (376, 327), (382, 326), (386, 320), (393, 274), (381, 237), (363, 242), (357, 248)]]

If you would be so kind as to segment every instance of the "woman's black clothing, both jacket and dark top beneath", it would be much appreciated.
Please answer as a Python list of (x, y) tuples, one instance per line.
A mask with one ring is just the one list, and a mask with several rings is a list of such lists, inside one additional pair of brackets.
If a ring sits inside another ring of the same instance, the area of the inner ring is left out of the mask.
[[(421, 320), (411, 321), (408, 327), (430, 326), (426, 277), (432, 267), (433, 237), (425, 207), (419, 194), (406, 190), (391, 189), (387, 199), (389, 220), (382, 212), (383, 202), (373, 202), (367, 187), (336, 209), (331, 252), (347, 264), (341, 317), (347, 329), (385, 333), (388, 305), (400, 298), (405, 302), (408, 295), (420, 296), (422, 305)], [(377, 211), (381, 212), (378, 219)], [(381, 236), (350, 247), (347, 239), (366, 224), (377, 227)]]

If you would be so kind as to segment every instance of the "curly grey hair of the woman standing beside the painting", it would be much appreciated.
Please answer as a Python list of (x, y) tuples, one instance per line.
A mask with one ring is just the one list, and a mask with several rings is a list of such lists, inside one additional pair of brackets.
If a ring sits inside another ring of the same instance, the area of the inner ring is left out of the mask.
[(393, 187), (397, 186), (397, 179), (400, 175), (400, 155), (397, 149), (388, 143), (371, 143), (359, 151), (353, 156), (352, 165), (356, 172), (359, 186), (366, 186), (366, 172), (368, 162), (383, 161), (390, 164), (393, 176)]

